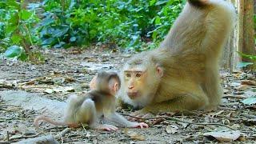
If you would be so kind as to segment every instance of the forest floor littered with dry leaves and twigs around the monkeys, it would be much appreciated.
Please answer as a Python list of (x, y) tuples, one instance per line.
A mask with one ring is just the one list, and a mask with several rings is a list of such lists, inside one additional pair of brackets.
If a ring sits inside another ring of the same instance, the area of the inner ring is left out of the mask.
[[(88, 91), (90, 79), (98, 70), (120, 70), (132, 54), (71, 49), (45, 50), (43, 55), (46, 63), (41, 65), (0, 59), (0, 142), (58, 134), (62, 136), (54, 138), (63, 143), (256, 142), (255, 77), (239, 71), (221, 72), (224, 97), (216, 111), (192, 111), (190, 115), (160, 113), (154, 115), (157, 118), (144, 119), (150, 125), (148, 129), (70, 130), (46, 122), (36, 129), (36, 116), (61, 117), (58, 113), (62, 113), (62, 104), (69, 94)], [(19, 99), (23, 96), (38, 100)], [(118, 113), (130, 114), (131, 110), (118, 108)]]

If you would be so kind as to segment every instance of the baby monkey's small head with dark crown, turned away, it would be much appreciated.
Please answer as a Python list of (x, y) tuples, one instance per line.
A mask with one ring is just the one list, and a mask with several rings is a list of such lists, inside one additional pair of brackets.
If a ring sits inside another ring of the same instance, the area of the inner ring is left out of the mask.
[(90, 82), (90, 90), (99, 90), (115, 95), (120, 89), (121, 81), (115, 72), (99, 72)]

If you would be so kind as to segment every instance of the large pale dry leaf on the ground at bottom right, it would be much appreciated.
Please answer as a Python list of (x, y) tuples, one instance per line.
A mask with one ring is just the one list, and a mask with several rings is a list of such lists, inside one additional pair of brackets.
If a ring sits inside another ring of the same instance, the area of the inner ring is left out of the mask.
[(242, 136), (242, 133), (239, 130), (233, 130), (233, 131), (217, 131), (217, 132), (209, 132), (203, 134), (206, 137), (214, 137), (219, 142), (231, 142), (237, 140), (240, 136)]

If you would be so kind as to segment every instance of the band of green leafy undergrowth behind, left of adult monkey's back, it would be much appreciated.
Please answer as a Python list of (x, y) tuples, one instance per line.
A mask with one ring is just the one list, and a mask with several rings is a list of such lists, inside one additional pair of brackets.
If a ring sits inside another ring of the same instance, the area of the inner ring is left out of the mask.
[(168, 33), (184, 2), (44, 0), (26, 7), (6, 0), (0, 2), (0, 46), (67, 48), (103, 42), (151, 49)]

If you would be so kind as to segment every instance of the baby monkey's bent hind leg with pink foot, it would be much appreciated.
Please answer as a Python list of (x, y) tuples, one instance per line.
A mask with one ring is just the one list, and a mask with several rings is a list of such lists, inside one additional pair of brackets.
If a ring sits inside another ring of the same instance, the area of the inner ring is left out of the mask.
[(82, 106), (79, 108), (76, 118), (78, 122), (87, 123), (91, 129), (108, 131), (118, 130), (116, 126), (100, 124), (98, 122), (97, 110), (94, 101), (91, 99), (86, 99), (82, 102)]

